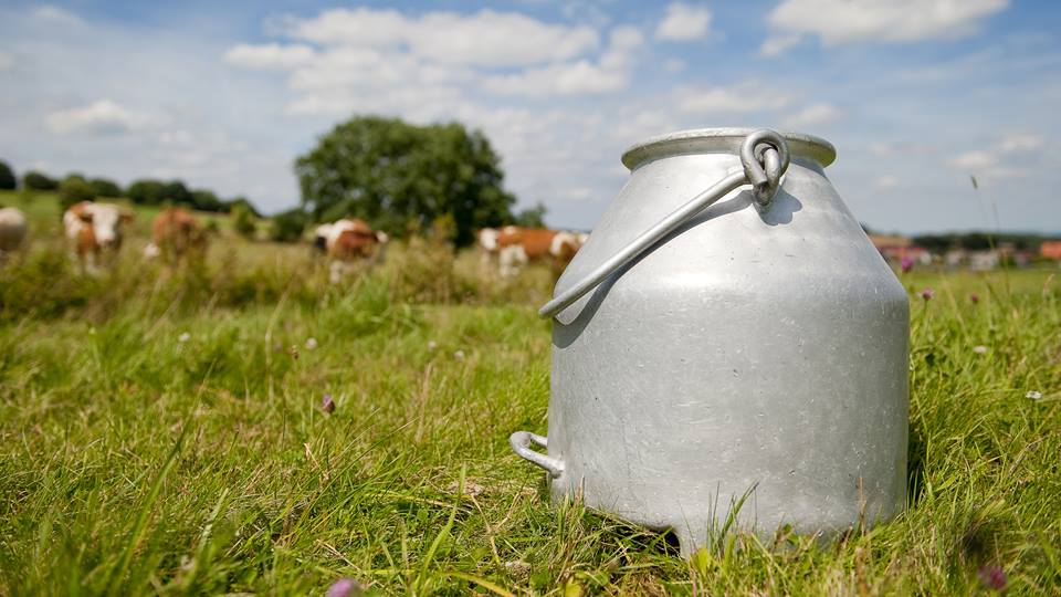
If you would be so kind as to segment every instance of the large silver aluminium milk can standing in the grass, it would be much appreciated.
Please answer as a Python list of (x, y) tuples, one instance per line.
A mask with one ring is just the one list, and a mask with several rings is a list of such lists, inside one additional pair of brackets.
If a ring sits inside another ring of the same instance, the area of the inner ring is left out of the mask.
[(542, 308), (548, 438), (510, 440), (554, 501), (670, 528), (685, 555), (731, 511), (764, 537), (902, 511), (908, 303), (833, 159), (734, 128), (623, 154), (630, 179)]

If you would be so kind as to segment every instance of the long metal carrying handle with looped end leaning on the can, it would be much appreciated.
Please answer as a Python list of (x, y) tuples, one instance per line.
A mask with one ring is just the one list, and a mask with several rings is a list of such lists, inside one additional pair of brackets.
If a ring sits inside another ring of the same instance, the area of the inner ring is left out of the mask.
[(558, 296), (538, 310), (542, 317), (551, 317), (578, 301), (587, 292), (597, 287), (609, 275), (630, 263), (647, 249), (659, 242), (691, 218), (707, 209), (729, 192), (752, 185), (755, 200), (759, 207), (767, 207), (774, 200), (781, 175), (788, 169), (788, 144), (774, 130), (760, 128), (745, 137), (740, 145), (740, 165), (744, 171), (733, 172), (707, 190), (693, 197), (687, 203), (675, 209), (640, 237), (611, 255), (586, 277), (571, 285)]

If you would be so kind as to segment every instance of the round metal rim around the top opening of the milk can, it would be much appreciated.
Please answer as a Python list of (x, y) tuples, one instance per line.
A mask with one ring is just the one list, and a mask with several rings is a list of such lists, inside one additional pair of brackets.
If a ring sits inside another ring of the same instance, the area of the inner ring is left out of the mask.
[[(693, 128), (649, 137), (622, 153), (622, 165), (630, 170), (663, 157), (691, 154), (738, 155), (744, 138), (755, 128)], [(837, 148), (821, 137), (802, 133), (780, 132), (788, 142), (794, 158), (809, 158), (822, 167), (837, 159)]]

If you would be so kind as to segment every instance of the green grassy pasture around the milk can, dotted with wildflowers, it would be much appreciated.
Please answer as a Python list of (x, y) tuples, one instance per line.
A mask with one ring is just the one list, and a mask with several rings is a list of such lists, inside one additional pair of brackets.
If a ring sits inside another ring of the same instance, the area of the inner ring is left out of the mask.
[(550, 507), (507, 447), (546, 429), (547, 272), (501, 284), (474, 254), (396, 247), (330, 287), (305, 247), (222, 235), (169, 271), (144, 242), (98, 280), (46, 237), (0, 271), (0, 595), (1061, 586), (1050, 272), (904, 277), (905, 514), (830, 544), (731, 534), (683, 561), (663, 535)]

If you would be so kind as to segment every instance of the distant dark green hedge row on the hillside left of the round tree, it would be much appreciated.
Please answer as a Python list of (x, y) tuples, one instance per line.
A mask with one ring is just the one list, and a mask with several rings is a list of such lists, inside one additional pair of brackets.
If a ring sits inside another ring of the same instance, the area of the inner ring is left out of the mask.
[(71, 172), (60, 179), (39, 170), (28, 170), (22, 175), (20, 182), (14, 170), (7, 163), (0, 161), (0, 189), (19, 188), (31, 192), (57, 192), (64, 206), (97, 198), (126, 198), (143, 206), (186, 206), (198, 211), (216, 213), (231, 213), (237, 206), (240, 206), (241, 209), (246, 209), (253, 216), (261, 218), (261, 213), (245, 197), (222, 199), (210, 189), (190, 189), (182, 180), (141, 178), (123, 188), (112, 179), (88, 178), (80, 172)]

